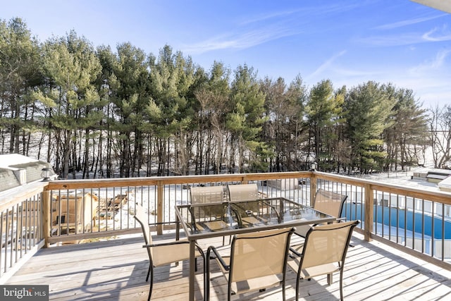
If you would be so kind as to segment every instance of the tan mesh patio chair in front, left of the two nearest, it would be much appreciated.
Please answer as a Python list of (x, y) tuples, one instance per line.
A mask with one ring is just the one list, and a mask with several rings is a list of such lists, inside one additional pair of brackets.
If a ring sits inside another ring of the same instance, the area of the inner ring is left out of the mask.
[[(206, 258), (214, 253), (216, 262), (228, 281), (228, 300), (255, 290), (282, 285), (285, 300), (285, 272), (290, 236), (295, 228), (274, 229), (237, 234), (230, 245), (230, 256), (223, 257), (214, 246), (207, 250)], [(205, 296), (209, 300), (210, 260), (206, 261)]]

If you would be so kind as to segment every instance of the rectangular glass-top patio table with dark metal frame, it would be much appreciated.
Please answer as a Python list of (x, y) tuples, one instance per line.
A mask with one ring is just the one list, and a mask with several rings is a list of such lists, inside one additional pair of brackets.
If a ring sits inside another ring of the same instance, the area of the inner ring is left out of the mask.
[(194, 301), (196, 240), (336, 220), (334, 216), (284, 197), (178, 205), (175, 214), (178, 220), (176, 239), (179, 239), (181, 224), (190, 241), (190, 301)]

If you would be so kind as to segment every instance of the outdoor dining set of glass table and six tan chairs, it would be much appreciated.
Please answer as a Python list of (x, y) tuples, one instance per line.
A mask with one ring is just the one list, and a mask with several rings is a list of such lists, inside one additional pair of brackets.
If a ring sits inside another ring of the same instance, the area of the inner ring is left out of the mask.
[[(149, 297), (152, 295), (154, 267), (189, 260), (190, 301), (194, 300), (197, 259), (204, 262), (204, 300), (210, 298), (212, 262), (226, 277), (228, 300), (232, 295), (264, 291), (281, 286), (285, 300), (287, 269), (299, 281), (315, 276), (342, 274), (347, 248), (359, 221), (340, 218), (346, 195), (318, 190), (312, 207), (284, 197), (266, 197), (256, 183), (190, 188), (190, 204), (175, 207), (178, 219), (175, 241), (154, 244), (147, 215), (137, 205), (135, 219), (144, 233), (144, 247), (149, 254)], [(186, 239), (180, 240), (180, 226)], [(292, 240), (292, 235), (299, 240)], [(223, 245), (206, 250), (197, 243), (207, 238), (223, 238)], [(226, 240), (228, 243), (226, 244)]]

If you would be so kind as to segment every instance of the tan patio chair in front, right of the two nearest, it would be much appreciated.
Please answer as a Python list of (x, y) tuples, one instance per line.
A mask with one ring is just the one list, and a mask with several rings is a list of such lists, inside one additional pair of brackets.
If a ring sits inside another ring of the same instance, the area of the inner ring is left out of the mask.
[(296, 300), (299, 300), (299, 281), (315, 276), (328, 275), (340, 271), (340, 298), (343, 300), (343, 271), (347, 247), (350, 245), (352, 231), (359, 221), (346, 221), (328, 225), (314, 226), (307, 232), (303, 245), (290, 248), (288, 266), (297, 272)]

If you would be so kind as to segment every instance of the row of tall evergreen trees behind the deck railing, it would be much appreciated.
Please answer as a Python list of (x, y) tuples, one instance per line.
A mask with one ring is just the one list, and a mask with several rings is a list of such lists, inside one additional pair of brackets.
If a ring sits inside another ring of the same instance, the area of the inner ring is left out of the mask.
[[(94, 48), (75, 31), (40, 42), (20, 18), (0, 21), (1, 153), (37, 156), (61, 178), (298, 171), (311, 161), (328, 172), (404, 170), (424, 161), (431, 133), (450, 131), (450, 108), (432, 115), (390, 83), (308, 88), (300, 75), (258, 78), (247, 64), (204, 70), (169, 45), (157, 56), (128, 42)], [(443, 147), (436, 165), (449, 159)]]

